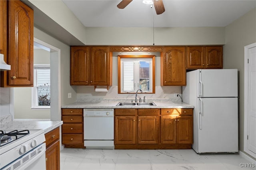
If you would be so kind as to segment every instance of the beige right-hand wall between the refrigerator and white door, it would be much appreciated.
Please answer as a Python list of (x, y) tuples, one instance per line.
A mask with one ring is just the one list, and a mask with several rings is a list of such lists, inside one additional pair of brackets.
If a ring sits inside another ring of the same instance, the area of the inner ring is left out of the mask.
[(256, 42), (256, 8), (226, 26), (224, 69), (237, 68), (239, 78), (239, 150), (244, 152), (244, 46)]

